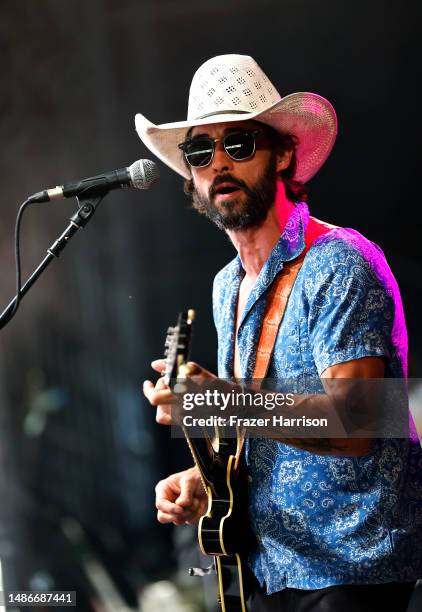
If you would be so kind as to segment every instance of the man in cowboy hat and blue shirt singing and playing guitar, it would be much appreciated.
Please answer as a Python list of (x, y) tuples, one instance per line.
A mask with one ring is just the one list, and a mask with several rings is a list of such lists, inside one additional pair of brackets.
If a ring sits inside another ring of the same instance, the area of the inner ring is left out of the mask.
[[(353, 230), (326, 227), (316, 239), (308, 232), (304, 183), (336, 136), (327, 100), (282, 98), (252, 58), (226, 55), (195, 74), (186, 122), (154, 126), (137, 115), (136, 127), (238, 252), (214, 282), (220, 377), (253, 376), (271, 284), (305, 245), (268, 376), (406, 376), (400, 296), (380, 249)], [(153, 368), (162, 372), (163, 361)], [(212, 376), (197, 364), (191, 374)], [(157, 421), (169, 423), (172, 394), (163, 381), (146, 381), (144, 393)], [(405, 612), (422, 575), (414, 432), (372, 441), (251, 438), (245, 461), (258, 540), (249, 559), (253, 612)], [(156, 505), (162, 523), (196, 522), (206, 507), (196, 469), (161, 481)]]

